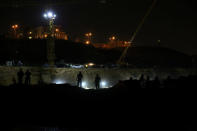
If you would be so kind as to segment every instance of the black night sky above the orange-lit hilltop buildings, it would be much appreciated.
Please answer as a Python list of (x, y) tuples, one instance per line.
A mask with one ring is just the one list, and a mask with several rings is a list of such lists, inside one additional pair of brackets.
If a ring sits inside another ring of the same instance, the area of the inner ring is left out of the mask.
[[(42, 14), (48, 7), (45, 3), (47, 0), (40, 6), (0, 6), (0, 33), (14, 23), (43, 25), (46, 22)], [(62, 25), (71, 38), (93, 32), (95, 42), (105, 42), (113, 34), (120, 40), (129, 40), (151, 3), (152, 0), (76, 0), (50, 8), (57, 13), (56, 24)], [(196, 0), (158, 0), (135, 43), (153, 45), (161, 40), (163, 46), (197, 54), (196, 7)]]

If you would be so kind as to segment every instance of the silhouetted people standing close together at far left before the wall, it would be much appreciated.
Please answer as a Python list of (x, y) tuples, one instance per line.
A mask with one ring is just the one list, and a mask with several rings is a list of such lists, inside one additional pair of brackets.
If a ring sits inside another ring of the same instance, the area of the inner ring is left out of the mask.
[[(31, 72), (27, 70), (24, 72), (22, 69), (20, 69), (17, 72), (17, 78), (18, 78), (18, 84), (24, 84), (24, 77), (25, 77), (25, 85), (30, 85), (31, 84)], [(13, 83), (16, 84), (16, 80), (13, 78)]]

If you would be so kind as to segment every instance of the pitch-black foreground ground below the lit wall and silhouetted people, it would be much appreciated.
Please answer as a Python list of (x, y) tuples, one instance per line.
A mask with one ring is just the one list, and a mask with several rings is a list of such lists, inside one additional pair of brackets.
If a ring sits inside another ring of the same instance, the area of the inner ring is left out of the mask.
[(196, 79), (172, 83), (166, 88), (140, 88), (137, 82), (125, 81), (105, 90), (83, 90), (69, 85), (2, 87), (0, 128), (196, 130)]

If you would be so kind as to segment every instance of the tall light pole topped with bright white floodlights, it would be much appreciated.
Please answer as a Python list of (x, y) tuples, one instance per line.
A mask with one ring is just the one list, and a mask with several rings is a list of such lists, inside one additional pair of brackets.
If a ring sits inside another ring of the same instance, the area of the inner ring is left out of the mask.
[(49, 32), (47, 38), (47, 59), (50, 67), (55, 66), (55, 40), (54, 40), (54, 21), (56, 14), (48, 11), (44, 14), (44, 18), (49, 21)]

